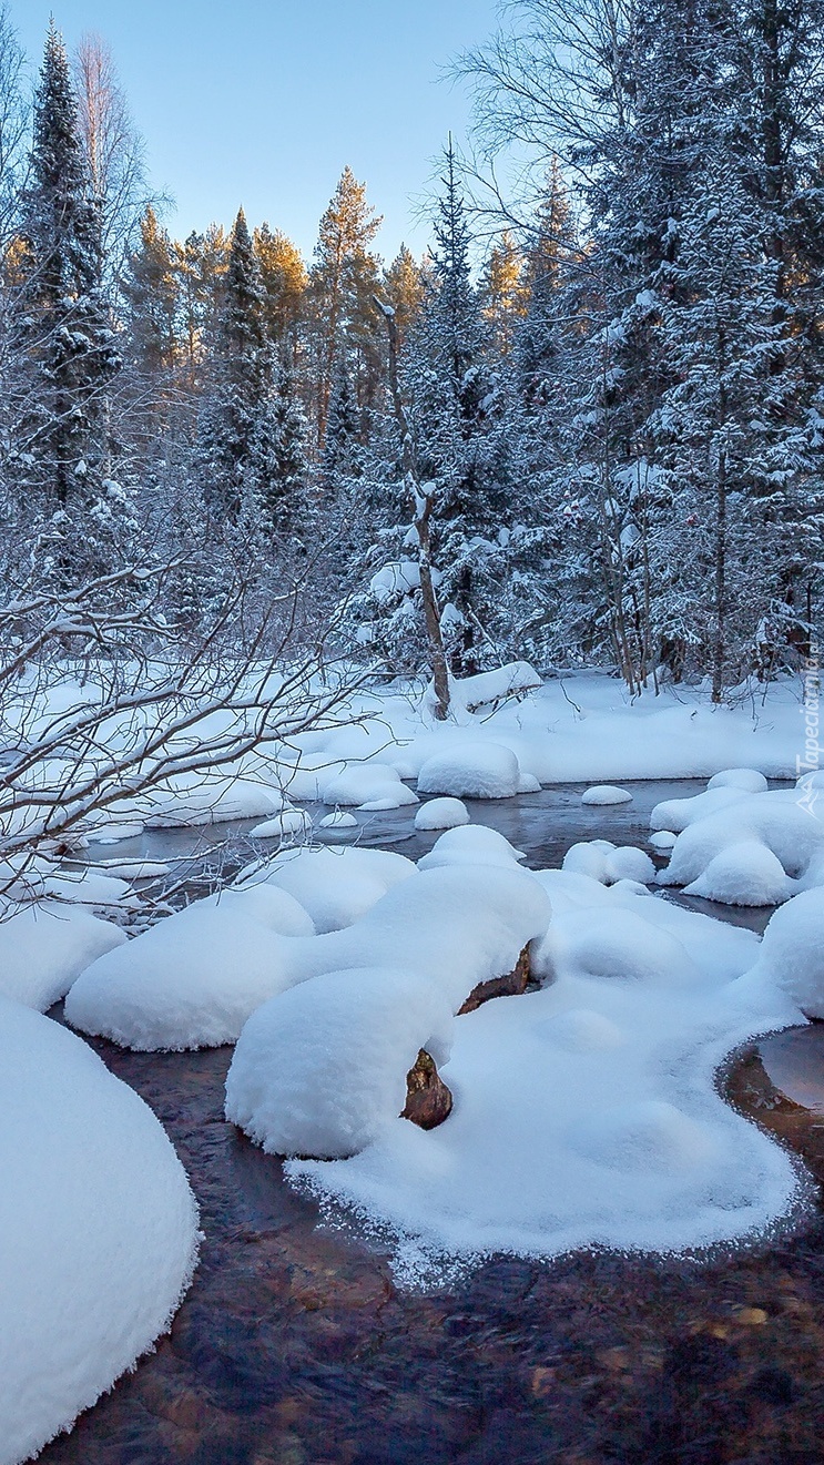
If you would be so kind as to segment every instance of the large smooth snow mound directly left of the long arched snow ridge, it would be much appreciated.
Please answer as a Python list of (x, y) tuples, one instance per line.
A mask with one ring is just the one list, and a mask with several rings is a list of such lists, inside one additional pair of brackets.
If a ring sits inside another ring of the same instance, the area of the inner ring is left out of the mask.
[(139, 1052), (235, 1043), (286, 984), (284, 939), (230, 900), (198, 902), (92, 963), (66, 998), (66, 1018)]

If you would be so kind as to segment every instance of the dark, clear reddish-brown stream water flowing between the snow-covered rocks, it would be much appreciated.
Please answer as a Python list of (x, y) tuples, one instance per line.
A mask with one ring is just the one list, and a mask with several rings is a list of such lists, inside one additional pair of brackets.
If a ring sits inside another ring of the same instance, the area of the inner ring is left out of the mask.
[[(628, 787), (633, 803), (608, 809), (584, 807), (566, 785), (472, 813), (540, 867), (560, 864), (576, 839), (645, 845), (652, 804), (704, 785)], [(358, 817), (347, 835), (413, 858), (435, 838), (412, 831), (409, 810)], [(254, 850), (243, 826), (221, 832), (235, 858)], [(91, 854), (202, 847), (191, 831), (163, 831)], [(691, 904), (758, 930), (768, 916)], [(229, 1049), (94, 1046), (166, 1125), (205, 1241), (169, 1338), (43, 1452), (44, 1465), (824, 1459), (824, 1216), (702, 1263), (497, 1257), (449, 1291), (403, 1292), (387, 1254), (318, 1226), (279, 1162), (224, 1124)], [(824, 1181), (824, 1026), (752, 1045), (724, 1087)]]

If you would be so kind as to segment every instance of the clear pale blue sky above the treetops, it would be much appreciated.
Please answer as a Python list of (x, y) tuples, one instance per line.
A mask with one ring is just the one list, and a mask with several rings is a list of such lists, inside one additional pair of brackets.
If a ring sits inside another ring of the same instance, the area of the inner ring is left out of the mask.
[(384, 256), (424, 248), (415, 205), (469, 117), (438, 76), (496, 26), (496, 0), (12, 0), (37, 62), (51, 9), (69, 45), (108, 41), (173, 233), (243, 204), (306, 255), (346, 163), (384, 215)]

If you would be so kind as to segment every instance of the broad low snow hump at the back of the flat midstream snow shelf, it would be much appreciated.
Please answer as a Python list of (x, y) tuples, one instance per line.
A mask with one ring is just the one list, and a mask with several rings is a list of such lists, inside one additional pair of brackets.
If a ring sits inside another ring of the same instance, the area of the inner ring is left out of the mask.
[(550, 923), (532, 954), (540, 980), (598, 977), (622, 982), (695, 982), (698, 970), (683, 943), (630, 910), (569, 911)]

